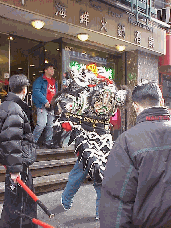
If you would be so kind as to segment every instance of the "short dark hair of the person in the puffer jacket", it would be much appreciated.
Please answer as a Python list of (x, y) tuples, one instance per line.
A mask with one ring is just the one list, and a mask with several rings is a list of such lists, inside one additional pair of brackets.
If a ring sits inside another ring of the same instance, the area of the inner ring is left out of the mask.
[(24, 74), (16, 74), (9, 79), (9, 87), (13, 93), (21, 93), (23, 88), (29, 85), (29, 80)]

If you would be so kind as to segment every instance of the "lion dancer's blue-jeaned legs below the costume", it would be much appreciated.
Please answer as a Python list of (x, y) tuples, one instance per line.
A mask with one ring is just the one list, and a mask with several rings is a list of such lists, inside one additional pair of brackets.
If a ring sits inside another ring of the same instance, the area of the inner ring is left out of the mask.
[[(71, 170), (67, 185), (62, 193), (62, 205), (65, 210), (69, 210), (72, 206), (74, 195), (77, 193), (81, 184), (85, 181), (88, 174), (88, 169), (83, 170), (83, 163), (76, 161)], [(94, 181), (94, 188), (96, 191), (96, 219), (99, 219), (99, 203), (101, 197), (101, 184)]]

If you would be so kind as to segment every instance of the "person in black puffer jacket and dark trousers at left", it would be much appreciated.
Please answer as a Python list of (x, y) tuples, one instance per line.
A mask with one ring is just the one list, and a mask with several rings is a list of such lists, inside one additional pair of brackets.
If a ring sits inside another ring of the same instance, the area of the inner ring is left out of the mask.
[(34, 191), (29, 166), (36, 160), (36, 149), (29, 122), (30, 111), (23, 101), (27, 94), (28, 79), (13, 75), (9, 79), (11, 92), (0, 105), (0, 163), (6, 168), (5, 197), (0, 227), (37, 228), (31, 220), (21, 217), (16, 210), (37, 217), (37, 206), (19, 186), (19, 176)]

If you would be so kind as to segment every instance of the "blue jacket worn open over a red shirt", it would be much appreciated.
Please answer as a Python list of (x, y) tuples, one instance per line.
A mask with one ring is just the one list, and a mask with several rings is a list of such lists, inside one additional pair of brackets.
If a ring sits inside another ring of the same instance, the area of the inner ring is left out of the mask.
[[(43, 78), (43, 76), (37, 78), (36, 81), (33, 83), (32, 100), (36, 108), (42, 108), (48, 102), (48, 100), (46, 99), (47, 86), (48, 82), (45, 78)], [(57, 93), (57, 82), (55, 82), (55, 88)]]

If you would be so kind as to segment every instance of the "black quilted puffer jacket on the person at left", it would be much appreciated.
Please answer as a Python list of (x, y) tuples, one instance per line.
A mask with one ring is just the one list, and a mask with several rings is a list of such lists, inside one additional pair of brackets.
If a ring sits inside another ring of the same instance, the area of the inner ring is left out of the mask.
[(0, 105), (0, 163), (8, 173), (22, 172), (36, 160), (29, 114), (27, 104), (11, 92)]

